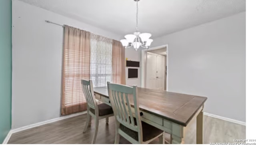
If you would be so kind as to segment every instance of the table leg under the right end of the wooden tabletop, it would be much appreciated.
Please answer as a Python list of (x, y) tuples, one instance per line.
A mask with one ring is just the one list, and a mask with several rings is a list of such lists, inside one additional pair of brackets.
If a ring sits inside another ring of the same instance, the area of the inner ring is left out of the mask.
[(203, 111), (196, 117), (196, 144), (203, 143)]

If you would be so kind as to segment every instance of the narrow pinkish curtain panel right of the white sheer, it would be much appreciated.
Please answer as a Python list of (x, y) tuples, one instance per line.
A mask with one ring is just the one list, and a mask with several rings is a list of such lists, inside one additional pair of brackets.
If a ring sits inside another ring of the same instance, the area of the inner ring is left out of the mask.
[(126, 84), (125, 81), (125, 50), (120, 41), (112, 42), (112, 82)]

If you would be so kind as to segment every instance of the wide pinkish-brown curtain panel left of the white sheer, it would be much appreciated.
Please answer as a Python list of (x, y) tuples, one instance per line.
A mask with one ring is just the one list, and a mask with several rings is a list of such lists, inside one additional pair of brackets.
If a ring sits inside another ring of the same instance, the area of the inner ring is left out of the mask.
[(85, 111), (81, 79), (90, 79), (90, 32), (65, 26), (62, 65), (61, 113)]

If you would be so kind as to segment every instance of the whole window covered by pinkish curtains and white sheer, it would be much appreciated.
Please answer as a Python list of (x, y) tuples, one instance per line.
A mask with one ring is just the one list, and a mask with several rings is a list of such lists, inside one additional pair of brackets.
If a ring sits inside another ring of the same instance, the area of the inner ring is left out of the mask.
[(81, 79), (93, 87), (107, 82), (125, 84), (125, 55), (121, 42), (65, 26), (62, 70), (62, 115), (87, 109)]

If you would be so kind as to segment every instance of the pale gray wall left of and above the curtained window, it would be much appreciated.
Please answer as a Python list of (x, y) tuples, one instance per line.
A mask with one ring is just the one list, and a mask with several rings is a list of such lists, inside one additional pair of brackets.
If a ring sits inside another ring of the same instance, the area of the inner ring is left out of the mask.
[(12, 129), (60, 117), (63, 28), (119, 35), (12, 0)]

